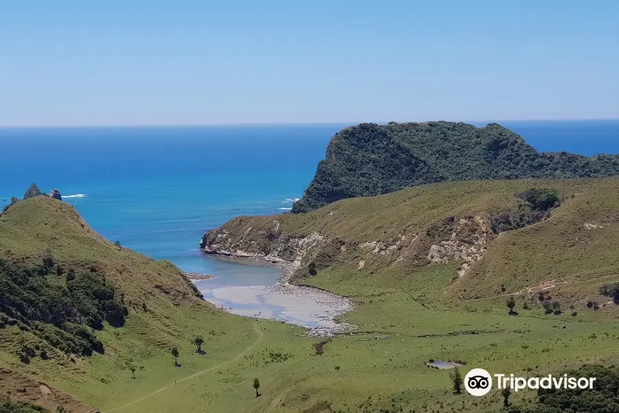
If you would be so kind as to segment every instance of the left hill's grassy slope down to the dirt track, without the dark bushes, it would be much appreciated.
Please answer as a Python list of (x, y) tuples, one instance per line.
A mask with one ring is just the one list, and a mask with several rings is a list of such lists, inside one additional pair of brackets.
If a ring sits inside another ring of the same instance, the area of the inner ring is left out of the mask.
[[(65, 354), (35, 337), (26, 327), (0, 329), (0, 366), (45, 381), (104, 410), (158, 390), (175, 378), (228, 361), (257, 340), (254, 322), (215, 310), (195, 295), (191, 283), (169, 262), (158, 262), (114, 247), (94, 233), (64, 202), (36, 197), (14, 204), (0, 217), (0, 256), (27, 265), (44, 250), (63, 268), (103, 275), (129, 307), (126, 324), (96, 331), (105, 353), (91, 357)], [(206, 356), (194, 354), (190, 340), (203, 335)], [(47, 350), (22, 363), (16, 352), (26, 341)], [(182, 368), (174, 368), (171, 346), (180, 348)], [(215, 350), (216, 349), (216, 350)], [(131, 379), (129, 363), (138, 367)], [(2, 383), (2, 382), (0, 382)], [(17, 394), (8, 382), (8, 392)], [(64, 405), (64, 403), (63, 403)], [(55, 407), (54, 407), (55, 408)], [(92, 411), (87, 407), (83, 410)], [(131, 411), (131, 410), (130, 410)]]

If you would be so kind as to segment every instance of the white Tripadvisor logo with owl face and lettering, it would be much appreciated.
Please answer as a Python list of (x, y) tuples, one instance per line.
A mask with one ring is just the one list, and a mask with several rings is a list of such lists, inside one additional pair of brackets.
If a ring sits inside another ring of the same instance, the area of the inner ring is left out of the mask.
[[(593, 388), (595, 377), (567, 377), (553, 376), (548, 374), (545, 377), (514, 377), (514, 374), (492, 374), (497, 382), (497, 388), (514, 390), (517, 392), (525, 388), (532, 390), (538, 389), (589, 389)], [(474, 368), (464, 377), (464, 388), (473, 396), (484, 396), (492, 390), (492, 376), (483, 368)]]

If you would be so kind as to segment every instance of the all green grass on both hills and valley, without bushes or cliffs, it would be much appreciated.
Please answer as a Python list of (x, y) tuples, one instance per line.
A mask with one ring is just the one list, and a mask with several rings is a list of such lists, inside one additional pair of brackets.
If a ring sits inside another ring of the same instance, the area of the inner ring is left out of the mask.
[[(296, 235), (329, 233), (349, 247), (336, 265), (321, 266), (303, 280), (357, 303), (340, 318), (358, 329), (332, 339), (299, 337), (302, 330), (294, 326), (220, 313), (193, 295), (173, 265), (115, 248), (67, 204), (42, 197), (19, 202), (0, 217), (3, 257), (34, 262), (49, 248), (65, 266), (94, 266), (124, 293), (130, 310), (123, 327), (106, 325), (97, 333), (106, 350), (91, 357), (54, 352), (50, 359), (34, 357), (23, 364), (15, 354), (20, 337), (39, 339), (17, 326), (0, 329), (0, 368), (9, 378), (0, 380), (0, 390), (51, 411), (58, 401), (72, 412), (497, 412), (502, 403), (498, 390), (483, 398), (454, 395), (448, 370), (426, 363), (466, 361), (463, 374), (481, 367), (534, 376), (619, 361), (614, 304), (600, 311), (586, 307), (600, 283), (619, 281), (613, 258), (618, 256), (613, 214), (619, 210), (619, 180), (557, 182), (554, 187), (565, 200), (551, 219), (492, 238), (486, 255), (464, 277), (456, 275), (461, 260), (420, 264), (422, 255), (413, 244), (397, 250), (410, 253), (400, 261), (351, 246), (390, 242), (402, 229), (423, 235), (450, 215), (514, 207), (512, 194), (531, 181), (440, 184), (345, 200), (312, 215), (256, 218), (254, 225), (276, 219), (283, 231)], [(585, 229), (585, 222), (596, 228)], [(587, 237), (587, 244), (574, 249), (572, 242), (558, 241), (563, 235)], [(418, 242), (428, 246), (435, 239), (423, 235)], [(367, 264), (359, 268), (364, 258)], [(523, 271), (528, 279), (519, 275)], [(574, 282), (546, 289), (564, 301), (572, 294), (577, 315), (546, 315), (539, 303), (523, 309), (527, 294), (520, 290), (556, 279), (557, 273), (569, 274)], [(470, 291), (475, 293), (466, 295)], [(508, 295), (518, 298), (519, 315), (508, 315)], [(206, 354), (195, 353), (194, 334), (204, 335)], [(379, 336), (389, 338), (374, 338)], [(179, 368), (171, 346), (180, 349)], [(135, 379), (127, 363), (137, 367)], [(41, 381), (54, 398), (36, 394), (34, 384), (21, 392), (23, 380), (11, 377)], [(252, 388), (254, 377), (261, 383), (259, 397)], [(525, 390), (512, 399), (529, 403), (534, 396)]]

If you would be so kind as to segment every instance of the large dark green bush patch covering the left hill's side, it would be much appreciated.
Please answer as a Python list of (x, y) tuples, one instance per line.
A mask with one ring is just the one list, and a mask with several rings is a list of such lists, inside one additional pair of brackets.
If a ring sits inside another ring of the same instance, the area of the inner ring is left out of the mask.
[(0, 321), (17, 319), (63, 352), (102, 352), (93, 329), (103, 328), (104, 321), (122, 326), (127, 308), (101, 275), (69, 270), (58, 277), (56, 268), (50, 251), (32, 267), (0, 259)]

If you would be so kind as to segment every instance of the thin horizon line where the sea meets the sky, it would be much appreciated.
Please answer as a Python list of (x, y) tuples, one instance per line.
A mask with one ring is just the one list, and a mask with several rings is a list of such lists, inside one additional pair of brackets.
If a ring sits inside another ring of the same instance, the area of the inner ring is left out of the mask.
[(115, 128), (115, 127), (268, 127), (268, 126), (303, 126), (303, 125), (360, 125), (361, 123), (376, 123), (378, 125), (387, 125), (387, 123), (428, 123), (428, 122), (451, 122), (451, 123), (500, 123), (500, 122), (583, 122), (583, 121), (602, 121), (602, 120), (619, 120), (618, 118), (547, 118), (547, 119), (472, 119), (472, 120), (369, 120), (356, 122), (265, 122), (265, 123), (118, 123), (118, 124), (66, 124), (66, 125), (0, 125), (0, 129), (71, 129), (71, 128)]

